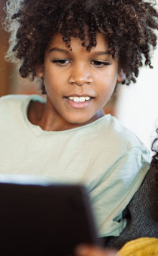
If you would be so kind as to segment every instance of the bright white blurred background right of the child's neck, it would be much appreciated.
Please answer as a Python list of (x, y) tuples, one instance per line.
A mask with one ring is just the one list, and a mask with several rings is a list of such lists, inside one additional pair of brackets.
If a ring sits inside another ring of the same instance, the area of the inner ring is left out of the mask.
[[(158, 0), (155, 3), (158, 10)], [(158, 32), (156, 35), (158, 38)], [(158, 41), (153, 52), (152, 65), (153, 69), (147, 67), (140, 69), (136, 84), (120, 88), (115, 105), (117, 118), (149, 149), (157, 136), (156, 128), (158, 128)]]

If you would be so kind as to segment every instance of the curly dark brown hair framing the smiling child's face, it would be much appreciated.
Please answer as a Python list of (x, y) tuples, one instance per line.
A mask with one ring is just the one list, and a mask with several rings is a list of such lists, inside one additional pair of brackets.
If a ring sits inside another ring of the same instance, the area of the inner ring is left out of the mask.
[(62, 34), (69, 50), (73, 36), (81, 38), (88, 51), (97, 44), (96, 32), (104, 33), (112, 56), (119, 58), (126, 74), (126, 84), (135, 83), (143, 62), (152, 68), (150, 50), (156, 47), (153, 29), (158, 29), (153, 1), (8, 0), (6, 11), (5, 26), (12, 33), (8, 57), (12, 61), (20, 59), (23, 78), (35, 78), (35, 66), (44, 62), (45, 50), (55, 32)]

